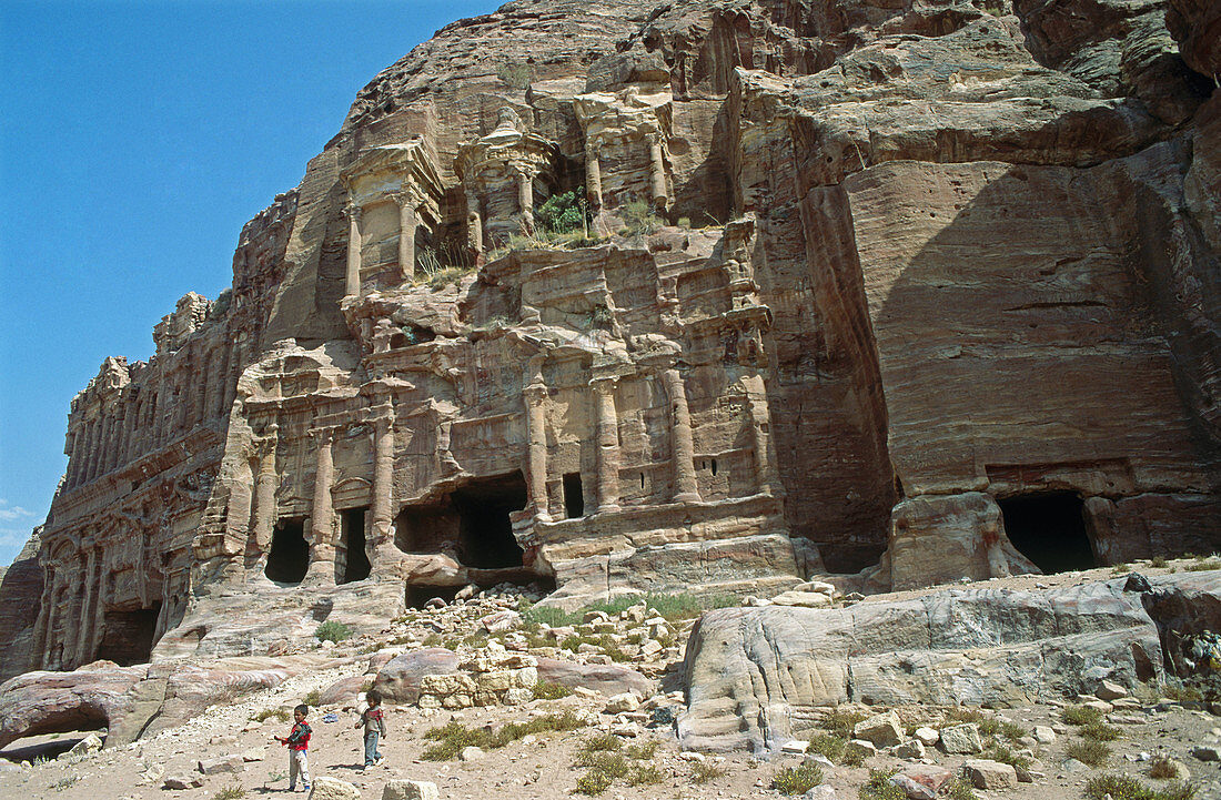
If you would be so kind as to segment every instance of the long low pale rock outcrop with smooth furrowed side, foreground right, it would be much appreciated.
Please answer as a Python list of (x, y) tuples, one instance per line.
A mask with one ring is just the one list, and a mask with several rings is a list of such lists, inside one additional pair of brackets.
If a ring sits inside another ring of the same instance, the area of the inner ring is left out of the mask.
[[(838, 609), (706, 614), (687, 642), (685, 747), (777, 750), (819, 706), (990, 705), (1162, 677), (1159, 634), (1221, 623), (1221, 576), (1046, 591), (947, 590)], [(862, 723), (863, 724), (863, 723)]]

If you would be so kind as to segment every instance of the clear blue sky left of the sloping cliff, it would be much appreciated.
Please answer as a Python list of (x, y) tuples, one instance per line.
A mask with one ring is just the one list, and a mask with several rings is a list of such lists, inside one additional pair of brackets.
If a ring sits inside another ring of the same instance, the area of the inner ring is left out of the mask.
[(68, 404), (143, 360), (357, 92), (487, 0), (0, 0), (0, 563), (43, 522)]

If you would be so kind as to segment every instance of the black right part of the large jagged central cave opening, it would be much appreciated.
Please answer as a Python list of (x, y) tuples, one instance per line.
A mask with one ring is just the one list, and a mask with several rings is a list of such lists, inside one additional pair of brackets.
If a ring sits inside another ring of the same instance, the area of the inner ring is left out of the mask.
[(525, 555), (513, 536), (509, 513), (526, 507), (526, 481), (520, 470), (480, 478), (453, 493), (458, 512), (458, 559), (468, 567), (520, 567)]

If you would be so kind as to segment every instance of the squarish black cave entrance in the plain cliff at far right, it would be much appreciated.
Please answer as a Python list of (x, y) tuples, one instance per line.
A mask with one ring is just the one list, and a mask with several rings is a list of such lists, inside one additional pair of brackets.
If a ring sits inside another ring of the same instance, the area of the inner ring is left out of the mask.
[(1045, 573), (1096, 567), (1085, 533), (1084, 503), (1072, 492), (1020, 495), (998, 500), (1005, 533), (1023, 556)]

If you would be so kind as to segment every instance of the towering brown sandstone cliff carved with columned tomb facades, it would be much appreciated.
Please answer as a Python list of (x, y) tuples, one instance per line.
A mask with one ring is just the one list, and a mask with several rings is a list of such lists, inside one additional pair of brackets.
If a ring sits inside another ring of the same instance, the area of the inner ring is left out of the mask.
[[(74, 401), (13, 663), (276, 652), (469, 583), (575, 607), (1217, 548), (1212, 11), (442, 29), (245, 227), (233, 288)], [(567, 193), (575, 249), (541, 230)]]

